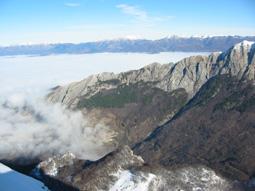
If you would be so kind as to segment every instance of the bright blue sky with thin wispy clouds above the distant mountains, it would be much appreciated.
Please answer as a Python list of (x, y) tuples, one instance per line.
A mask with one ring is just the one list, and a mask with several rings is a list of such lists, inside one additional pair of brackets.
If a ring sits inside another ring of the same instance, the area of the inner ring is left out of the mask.
[(0, 45), (255, 35), (254, 0), (1, 0)]

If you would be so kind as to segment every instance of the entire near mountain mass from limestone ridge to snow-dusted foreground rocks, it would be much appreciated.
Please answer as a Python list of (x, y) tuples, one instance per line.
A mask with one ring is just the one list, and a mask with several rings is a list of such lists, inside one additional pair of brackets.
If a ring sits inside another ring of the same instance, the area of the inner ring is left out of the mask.
[(47, 100), (110, 126), (116, 149), (55, 157), (33, 175), (52, 190), (254, 190), (254, 70), (255, 44), (243, 41), (57, 87)]

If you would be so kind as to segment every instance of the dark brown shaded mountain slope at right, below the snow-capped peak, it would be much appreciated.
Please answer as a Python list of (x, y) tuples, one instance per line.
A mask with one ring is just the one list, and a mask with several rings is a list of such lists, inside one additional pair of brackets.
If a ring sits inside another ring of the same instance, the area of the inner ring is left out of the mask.
[(255, 88), (227, 75), (210, 79), (175, 119), (137, 145), (149, 164), (205, 164), (249, 180), (255, 172)]

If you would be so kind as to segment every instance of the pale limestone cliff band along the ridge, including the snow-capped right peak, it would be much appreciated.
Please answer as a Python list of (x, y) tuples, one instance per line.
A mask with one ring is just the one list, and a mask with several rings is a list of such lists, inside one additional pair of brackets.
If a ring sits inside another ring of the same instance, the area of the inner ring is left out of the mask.
[(209, 78), (219, 72), (229, 73), (238, 78), (254, 79), (254, 51), (254, 43), (243, 41), (226, 52), (215, 52), (209, 56), (191, 56), (176, 64), (153, 63), (140, 70), (120, 74), (92, 75), (80, 82), (58, 87), (49, 94), (48, 100), (62, 102), (75, 108), (81, 96), (91, 97), (99, 91), (139, 81), (155, 82), (155, 87), (168, 92), (184, 88), (191, 97)]

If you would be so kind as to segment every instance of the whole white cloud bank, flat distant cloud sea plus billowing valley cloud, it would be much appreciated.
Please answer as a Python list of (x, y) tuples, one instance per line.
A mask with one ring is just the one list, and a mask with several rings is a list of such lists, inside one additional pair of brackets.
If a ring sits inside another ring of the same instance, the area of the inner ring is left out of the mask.
[(48, 89), (94, 73), (138, 69), (155, 61), (175, 62), (188, 55), (194, 53), (0, 57), (0, 159), (65, 152), (84, 159), (100, 157), (107, 152), (110, 127), (91, 127), (79, 111), (45, 103)]

